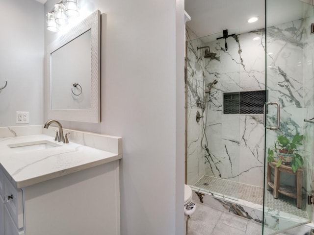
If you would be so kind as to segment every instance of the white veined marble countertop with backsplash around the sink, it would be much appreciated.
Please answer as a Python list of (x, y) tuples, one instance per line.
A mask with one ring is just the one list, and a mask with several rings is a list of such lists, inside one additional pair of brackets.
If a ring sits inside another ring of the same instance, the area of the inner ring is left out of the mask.
[[(110, 139), (110, 137), (108, 138), (108, 136), (105, 135), (102, 136), (96, 134), (95, 137), (93, 136), (93, 133), (87, 133), (84, 137), (83, 132), (75, 132), (76, 131), (72, 130), (73, 136), (82, 136), (83, 140), (102, 137), (104, 137), (105, 140)], [(106, 145), (104, 138), (97, 141)], [(54, 141), (54, 137), (46, 134), (3, 137), (0, 138), (0, 166), (2, 170), (4, 170), (7, 178), (16, 188), (24, 188), (93, 166), (121, 159), (121, 146), (119, 146), (121, 145), (121, 138), (115, 138), (114, 141), (115, 140), (119, 142), (116, 144), (118, 149), (109, 152), (104, 149), (101, 150), (95, 147), (86, 146), (84, 143), (80, 144), (73, 142), (71, 139), (69, 140), (70, 143), (66, 144)], [(40, 150), (25, 150), (23, 152), (17, 152), (14, 148), (8, 146), (10, 144), (32, 141), (51, 141), (60, 146)]]

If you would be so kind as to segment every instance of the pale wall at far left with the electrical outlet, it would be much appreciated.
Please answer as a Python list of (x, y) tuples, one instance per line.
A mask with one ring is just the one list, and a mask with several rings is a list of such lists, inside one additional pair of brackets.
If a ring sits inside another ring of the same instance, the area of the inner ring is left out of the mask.
[[(0, 0), (0, 126), (17, 126), (16, 111), (43, 123), (44, 6), (34, 0)], [(25, 124), (23, 124), (25, 125)]]

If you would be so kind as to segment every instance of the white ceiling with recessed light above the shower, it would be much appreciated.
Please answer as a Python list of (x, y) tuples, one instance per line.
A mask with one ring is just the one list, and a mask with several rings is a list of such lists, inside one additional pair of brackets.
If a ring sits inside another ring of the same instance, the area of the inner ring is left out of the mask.
[[(269, 2), (269, 3), (268, 3)], [(267, 9), (277, 14), (267, 16), (267, 25), (281, 24), (303, 16), (303, 5), (298, 0), (271, 0)], [(186, 24), (198, 37), (221, 33), (244, 33), (265, 27), (265, 0), (185, 0), (185, 11), (191, 21)], [(259, 21), (249, 24), (247, 19), (259, 16)]]

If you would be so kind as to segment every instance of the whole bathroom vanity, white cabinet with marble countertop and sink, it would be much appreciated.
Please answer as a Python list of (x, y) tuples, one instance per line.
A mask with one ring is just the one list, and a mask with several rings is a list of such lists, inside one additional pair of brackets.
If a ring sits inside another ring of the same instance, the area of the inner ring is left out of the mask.
[(121, 138), (35, 129), (0, 128), (0, 235), (119, 235)]

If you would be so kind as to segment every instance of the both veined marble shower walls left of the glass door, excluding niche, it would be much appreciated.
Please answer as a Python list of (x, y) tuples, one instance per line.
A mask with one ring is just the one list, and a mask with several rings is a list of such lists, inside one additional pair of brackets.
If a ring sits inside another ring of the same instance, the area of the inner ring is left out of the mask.
[[(188, 183), (194, 184), (204, 172), (209, 176), (262, 186), (262, 115), (222, 114), (222, 93), (265, 89), (264, 30), (228, 38), (227, 51), (223, 39), (209, 44), (202, 39), (189, 41), (190, 32), (187, 28)], [(204, 58), (205, 49), (196, 48), (204, 46), (217, 53), (214, 59)], [(204, 89), (214, 80), (218, 82), (209, 95), (205, 94)], [(199, 123), (195, 121), (197, 111), (204, 116)], [(202, 154), (201, 159), (196, 153)], [(198, 169), (198, 177), (192, 173), (190, 162)], [(205, 162), (204, 170), (201, 162), (203, 165)]]

